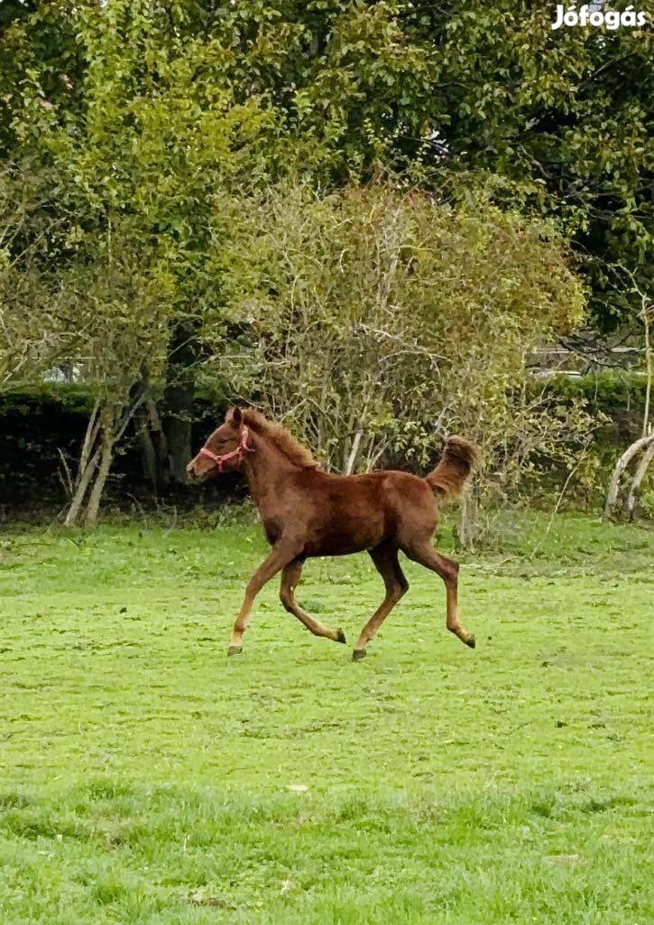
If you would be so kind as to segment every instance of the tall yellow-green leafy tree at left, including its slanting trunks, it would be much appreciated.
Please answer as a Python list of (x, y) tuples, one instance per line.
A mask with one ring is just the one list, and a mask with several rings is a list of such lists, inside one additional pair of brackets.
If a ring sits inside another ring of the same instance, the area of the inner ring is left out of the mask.
[[(256, 100), (235, 102), (224, 83), (224, 50), (170, 30), (169, 16), (175, 18), (183, 6), (116, 0), (101, 9), (82, 4), (68, 10), (76, 61), (84, 62), (74, 88), (76, 105), (68, 105), (66, 96), (48, 99), (51, 68), (41, 71), (35, 61), (15, 85), (21, 106), (14, 109), (11, 131), (17, 148), (24, 162), (37, 158), (38, 131), (42, 169), (56, 185), (51, 250), (59, 288), (85, 316), (83, 293), (93, 291), (94, 277), (102, 282), (84, 341), (92, 358), (84, 376), (97, 389), (98, 405), (82, 448), (79, 497), (84, 474), (95, 471), (90, 450), (95, 439), (104, 440), (95, 483), (102, 491), (115, 442), (138, 408), (131, 396), (148, 392), (152, 364), (160, 376), (168, 371), (169, 399), (179, 396), (180, 382), (192, 388), (194, 341), (219, 287), (206, 270), (208, 253), (229, 233), (214, 202), (235, 178), (251, 179), (266, 169), (266, 146), (274, 133), (272, 117)], [(62, 16), (60, 6), (44, 5), (32, 26), (37, 32), (44, 22), (52, 28), (53, 16)], [(28, 27), (21, 23), (21, 29), (24, 37)], [(13, 36), (18, 42), (17, 36), (18, 31)], [(156, 299), (151, 295), (141, 304), (144, 288), (151, 291), (152, 280), (162, 277), (165, 286)], [(150, 337), (143, 333), (149, 330), (144, 311), (164, 317), (170, 328), (166, 364), (157, 350), (151, 358), (143, 349)], [(126, 362), (116, 367), (116, 358)], [(169, 407), (173, 423), (179, 423), (177, 411)], [(189, 422), (181, 425), (168, 441), (177, 477), (190, 454)], [(93, 501), (87, 521), (96, 513)], [(78, 512), (69, 519), (78, 519)]]

